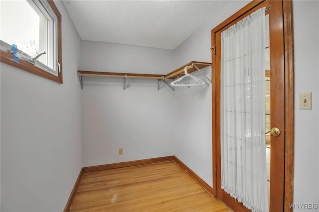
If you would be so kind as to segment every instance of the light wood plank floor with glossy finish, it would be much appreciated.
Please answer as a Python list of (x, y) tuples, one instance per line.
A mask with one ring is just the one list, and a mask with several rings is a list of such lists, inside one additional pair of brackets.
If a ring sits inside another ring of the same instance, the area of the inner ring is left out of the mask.
[(71, 212), (230, 212), (174, 161), (84, 173)]

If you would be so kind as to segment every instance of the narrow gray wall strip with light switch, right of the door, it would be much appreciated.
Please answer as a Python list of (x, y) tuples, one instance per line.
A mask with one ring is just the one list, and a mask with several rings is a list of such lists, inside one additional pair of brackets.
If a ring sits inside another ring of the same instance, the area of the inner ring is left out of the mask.
[[(293, 1), (293, 13), (295, 42), (294, 203), (319, 204), (319, 1)], [(313, 108), (311, 110), (299, 109), (299, 93), (303, 92), (312, 92)], [(304, 211), (318, 211), (318, 209), (305, 209)]]

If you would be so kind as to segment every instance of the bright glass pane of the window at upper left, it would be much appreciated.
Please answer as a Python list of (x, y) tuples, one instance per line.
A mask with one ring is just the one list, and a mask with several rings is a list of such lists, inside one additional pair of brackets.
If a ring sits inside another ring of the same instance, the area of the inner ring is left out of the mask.
[[(47, 51), (47, 19), (32, 1), (1, 0), (0, 39), (29, 56)], [(48, 65), (48, 54), (38, 59)], [(51, 67), (50, 67), (51, 68)]]

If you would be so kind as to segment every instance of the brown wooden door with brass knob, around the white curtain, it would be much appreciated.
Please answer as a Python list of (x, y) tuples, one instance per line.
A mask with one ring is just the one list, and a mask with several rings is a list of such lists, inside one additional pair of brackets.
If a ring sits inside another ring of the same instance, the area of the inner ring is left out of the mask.
[[(265, 142), (267, 159), (267, 184), (269, 211), (284, 210), (284, 165), (285, 165), (285, 78), (284, 78), (284, 33), (282, 1), (255, 1), (250, 8), (231, 16), (212, 30), (213, 99), (213, 167), (216, 178), (213, 183), (216, 197), (234, 211), (250, 211), (221, 189), (221, 32), (247, 17), (261, 7), (266, 12), (265, 30)], [(235, 17), (236, 16), (236, 17)], [(281, 131), (279, 133), (277, 131)]]

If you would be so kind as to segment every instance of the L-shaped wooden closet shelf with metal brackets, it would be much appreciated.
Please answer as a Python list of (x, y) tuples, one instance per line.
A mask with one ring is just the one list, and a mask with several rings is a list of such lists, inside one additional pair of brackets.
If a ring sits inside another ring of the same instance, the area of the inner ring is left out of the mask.
[[(78, 70), (78, 76), (80, 78), (81, 89), (83, 89), (83, 79), (82, 79), (83, 76), (96, 76), (96, 77), (121, 77), (121, 78), (124, 78), (124, 90), (126, 89), (126, 79), (127, 78), (158, 79), (159, 80), (158, 90), (160, 90), (160, 83), (162, 81), (164, 81), (164, 83), (166, 85), (168, 85), (165, 82), (165, 80), (168, 80), (168, 79), (172, 79), (173, 80), (173, 79), (176, 79), (176, 78), (184, 76), (185, 75), (184, 74), (184, 68), (186, 66), (191, 66), (191, 65), (193, 65), (193, 67), (189, 68), (187, 70), (188, 73), (192, 73), (194, 71), (199, 71), (200, 69), (203, 69), (203, 68), (205, 68), (207, 66), (210, 66), (211, 63), (191, 61), (191, 62), (179, 67), (178, 69), (175, 69), (174, 71), (169, 72), (166, 75), (160, 75), (160, 74), (134, 74), (134, 73), (118, 73), (118, 72), (98, 72), (98, 71), (82, 71), (82, 70)], [(208, 78), (206, 77), (206, 79), (208, 79)], [(171, 89), (174, 90), (173, 88), (171, 88)]]

